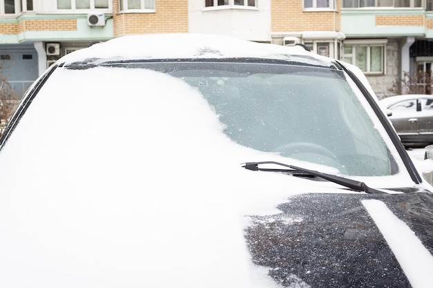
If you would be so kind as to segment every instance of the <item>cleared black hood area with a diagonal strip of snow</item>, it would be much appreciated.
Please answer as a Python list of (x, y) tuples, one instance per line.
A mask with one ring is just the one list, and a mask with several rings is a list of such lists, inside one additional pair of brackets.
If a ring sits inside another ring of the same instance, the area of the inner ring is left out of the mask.
[(427, 287), (432, 207), (431, 193), (296, 195), (281, 213), (252, 216), (246, 239), (284, 286)]

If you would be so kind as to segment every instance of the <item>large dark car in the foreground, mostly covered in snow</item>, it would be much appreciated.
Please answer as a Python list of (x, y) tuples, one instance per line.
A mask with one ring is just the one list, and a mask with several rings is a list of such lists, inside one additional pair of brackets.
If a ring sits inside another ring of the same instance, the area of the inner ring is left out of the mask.
[(430, 184), (360, 70), (300, 46), (95, 44), (0, 142), (0, 287), (433, 282)]

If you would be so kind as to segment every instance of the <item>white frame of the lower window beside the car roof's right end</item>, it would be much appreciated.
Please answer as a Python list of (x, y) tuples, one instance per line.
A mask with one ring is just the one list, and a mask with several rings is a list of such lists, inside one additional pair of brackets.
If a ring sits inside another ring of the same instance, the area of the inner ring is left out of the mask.
[[(347, 61), (348, 58), (351, 58), (351, 61), (348, 61), (350, 64), (356, 65), (356, 47), (367, 47), (367, 59), (366, 59), (366, 70), (362, 71), (365, 75), (385, 75), (386, 74), (386, 63), (387, 63), (387, 39), (362, 39), (355, 40), (349, 39), (345, 40), (343, 43), (343, 55), (342, 59)], [(351, 53), (344, 52), (344, 48), (351, 47)], [(381, 47), (382, 55), (381, 55), (381, 63), (380, 63), (380, 71), (371, 71), (371, 48), (372, 47)]]

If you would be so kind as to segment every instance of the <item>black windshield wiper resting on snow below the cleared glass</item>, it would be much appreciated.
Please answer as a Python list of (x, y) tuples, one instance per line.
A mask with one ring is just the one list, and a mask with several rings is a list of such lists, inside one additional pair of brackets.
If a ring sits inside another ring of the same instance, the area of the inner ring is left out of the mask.
[[(287, 167), (290, 169), (259, 168), (260, 164), (276, 164), (276, 165), (284, 166), (284, 167)], [(242, 167), (245, 169), (248, 169), (248, 170), (252, 170), (252, 171), (273, 171), (273, 172), (287, 172), (287, 173), (293, 173), (294, 171), (297, 171), (297, 172), (306, 173), (306, 175), (313, 175), (313, 176), (317, 176), (317, 177), (320, 177), (320, 178), (325, 179), (325, 180), (329, 180), (331, 182), (334, 182), (336, 184), (340, 184), (344, 187), (353, 189), (355, 191), (360, 191), (360, 192), (365, 192), (365, 193), (386, 193), (386, 192), (383, 192), (383, 191), (380, 191), (377, 189), (373, 189), (373, 188), (367, 186), (367, 184), (365, 184), (364, 182), (360, 182), (360, 181), (353, 180), (353, 179), (348, 179), (345, 177), (340, 177), (337, 175), (322, 173), (319, 171), (304, 169), (301, 167), (288, 165), (288, 164), (284, 164), (281, 162), (275, 162), (275, 161), (246, 162), (246, 163), (242, 164)]]

